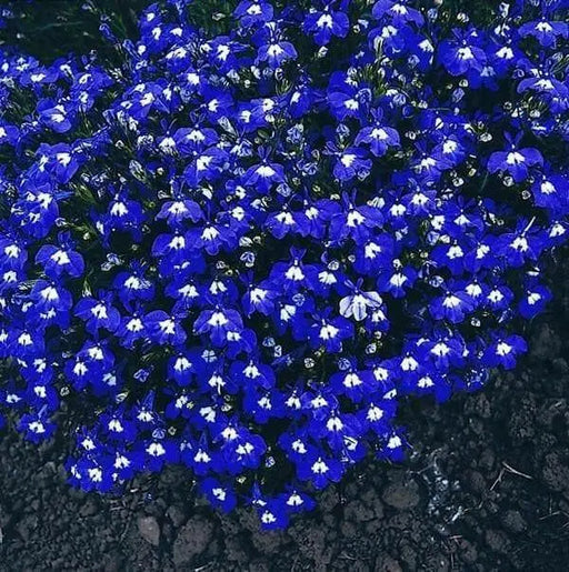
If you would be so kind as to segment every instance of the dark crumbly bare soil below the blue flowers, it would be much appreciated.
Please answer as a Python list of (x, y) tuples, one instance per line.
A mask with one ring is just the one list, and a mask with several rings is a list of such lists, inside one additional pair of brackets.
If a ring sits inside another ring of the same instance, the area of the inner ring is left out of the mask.
[(80, 493), (58, 443), (4, 435), (0, 570), (569, 570), (568, 329), (561, 283), (515, 372), (440, 407), (408, 403), (409, 460), (351, 474), (281, 533), (213, 513), (181, 468), (121, 499)]

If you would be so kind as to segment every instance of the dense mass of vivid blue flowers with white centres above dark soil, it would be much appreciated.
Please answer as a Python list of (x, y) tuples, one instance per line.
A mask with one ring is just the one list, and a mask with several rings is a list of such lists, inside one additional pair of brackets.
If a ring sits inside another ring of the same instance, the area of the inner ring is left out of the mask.
[(86, 491), (183, 463), (282, 528), (403, 459), (405, 397), (527, 350), (569, 237), (569, 2), (200, 3), (103, 18), (104, 57), (0, 52), (0, 408), (71, 435)]

